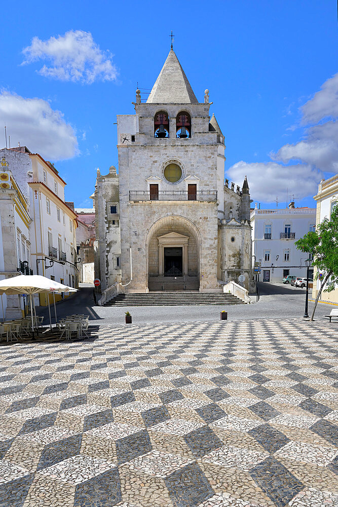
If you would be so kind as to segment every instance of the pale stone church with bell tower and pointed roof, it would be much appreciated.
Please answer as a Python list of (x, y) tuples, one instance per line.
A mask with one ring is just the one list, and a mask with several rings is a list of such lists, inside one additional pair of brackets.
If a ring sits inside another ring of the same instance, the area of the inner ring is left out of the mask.
[[(118, 292), (252, 287), (250, 194), (224, 180), (224, 135), (171, 49), (146, 102), (118, 115), (119, 172), (97, 171), (95, 276)], [(242, 276), (241, 276), (242, 275)], [(117, 289), (117, 287), (119, 287)]]

